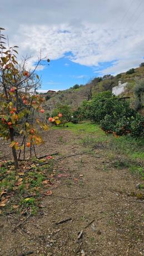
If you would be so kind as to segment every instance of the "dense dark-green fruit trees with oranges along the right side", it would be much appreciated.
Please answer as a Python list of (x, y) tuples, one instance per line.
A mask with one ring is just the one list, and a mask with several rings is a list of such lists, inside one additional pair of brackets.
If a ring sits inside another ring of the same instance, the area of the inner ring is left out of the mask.
[(98, 93), (91, 101), (84, 101), (79, 113), (83, 119), (99, 122), (102, 130), (115, 136), (142, 136), (144, 117), (130, 107), (128, 101), (113, 96), (111, 91)]

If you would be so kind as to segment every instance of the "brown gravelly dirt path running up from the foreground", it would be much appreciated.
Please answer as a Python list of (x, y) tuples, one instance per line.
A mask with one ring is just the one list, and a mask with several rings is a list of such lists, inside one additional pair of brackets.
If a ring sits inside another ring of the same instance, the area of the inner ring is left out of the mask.
[[(81, 136), (50, 131), (41, 154), (86, 151), (78, 142)], [(15, 231), (12, 216), (1, 217), (0, 255), (144, 255), (143, 203), (130, 196), (138, 178), (113, 168), (103, 148), (58, 160), (54, 168), (66, 177), (43, 199), (38, 215)]]

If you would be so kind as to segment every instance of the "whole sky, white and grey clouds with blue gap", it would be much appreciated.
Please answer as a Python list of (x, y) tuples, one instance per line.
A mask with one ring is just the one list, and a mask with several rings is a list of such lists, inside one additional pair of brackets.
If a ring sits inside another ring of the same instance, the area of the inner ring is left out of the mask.
[(62, 90), (93, 77), (137, 67), (144, 57), (143, 0), (1, 0), (0, 27), (19, 56), (40, 50), (49, 66), (42, 90)]

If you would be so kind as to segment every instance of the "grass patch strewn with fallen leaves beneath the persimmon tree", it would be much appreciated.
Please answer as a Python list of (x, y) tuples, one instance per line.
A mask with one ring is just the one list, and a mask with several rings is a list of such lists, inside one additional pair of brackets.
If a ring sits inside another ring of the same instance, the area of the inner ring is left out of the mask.
[[(31, 214), (37, 213), (41, 195), (50, 191), (49, 187), (54, 184), (55, 176), (57, 176), (56, 171), (53, 173), (53, 160), (49, 160), (46, 165), (38, 166), (43, 161), (48, 160), (34, 159), (21, 162), (18, 172), (14, 170), (12, 164), (9, 165), (9, 162), (2, 163), (0, 167), (0, 214), (7, 213), (9, 210), (13, 211), (13, 209), (21, 213), (25, 208), (26, 211), (31, 210)], [(31, 166), (32, 170), (27, 171), (27, 166)]]

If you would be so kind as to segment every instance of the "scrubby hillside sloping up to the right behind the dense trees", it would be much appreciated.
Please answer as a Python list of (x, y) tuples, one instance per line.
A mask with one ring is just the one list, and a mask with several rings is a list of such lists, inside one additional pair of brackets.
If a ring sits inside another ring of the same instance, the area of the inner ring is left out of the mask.
[(105, 75), (103, 77), (95, 77), (86, 85), (75, 85), (67, 90), (58, 91), (56, 95), (47, 95), (44, 93), (43, 96), (48, 98), (47, 105), (51, 105), (52, 108), (59, 102), (68, 104), (73, 110), (77, 109), (81, 105), (83, 100), (90, 100), (93, 95), (101, 91), (111, 90), (112, 87), (118, 85), (118, 81), (122, 83), (128, 82), (126, 92), (120, 95), (121, 97), (131, 97), (133, 99), (133, 88), (136, 85), (136, 81), (144, 78), (144, 67), (135, 68), (135, 72), (128, 74), (120, 73), (116, 76)]

